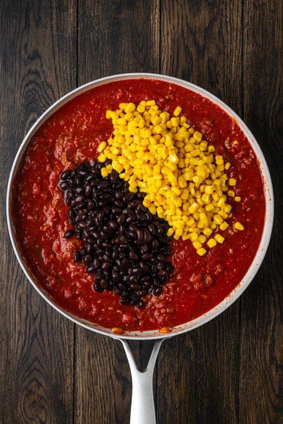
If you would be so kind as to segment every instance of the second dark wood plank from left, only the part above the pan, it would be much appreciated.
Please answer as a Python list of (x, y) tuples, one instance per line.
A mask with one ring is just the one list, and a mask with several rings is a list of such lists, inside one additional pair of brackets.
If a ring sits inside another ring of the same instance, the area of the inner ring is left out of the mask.
[(158, 0), (79, 3), (79, 85), (119, 73), (158, 73), (159, 27)]

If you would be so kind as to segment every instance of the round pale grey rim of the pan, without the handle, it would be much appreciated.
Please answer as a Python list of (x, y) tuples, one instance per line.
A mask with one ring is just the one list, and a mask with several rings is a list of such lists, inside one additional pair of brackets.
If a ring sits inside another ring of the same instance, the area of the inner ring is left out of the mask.
[[(73, 97), (76, 97), (82, 92), (87, 91), (91, 88), (94, 88), (98, 85), (102, 85), (107, 82), (112, 82), (117, 80), (139, 79), (139, 78), (167, 81), (169, 83), (171, 82), (179, 86), (185, 87), (189, 90), (195, 91), (201, 94), (202, 96), (208, 98), (209, 100), (211, 100), (213, 103), (215, 103), (217, 106), (223, 109), (224, 112), (226, 112), (230, 117), (232, 117), (238, 123), (240, 128), (243, 130), (243, 132), (247, 136), (249, 143), (253, 147), (260, 164), (262, 178), (265, 183), (266, 216), (265, 216), (265, 224), (264, 224), (262, 239), (252, 264), (250, 265), (247, 273), (245, 274), (241, 282), (233, 289), (233, 291), (222, 302), (217, 304), (214, 308), (212, 308), (205, 314), (201, 315), (200, 317), (192, 321), (188, 321), (182, 325), (176, 326), (173, 329), (173, 331), (170, 333), (160, 333), (159, 330), (153, 330), (153, 331), (135, 331), (135, 332), (128, 332), (128, 333), (125, 332), (123, 334), (115, 334), (111, 331), (111, 329), (98, 326), (96, 324), (93, 324), (87, 320), (81, 319), (69, 313), (68, 311), (63, 309), (61, 306), (57, 305), (55, 301), (51, 299), (51, 297), (45, 292), (45, 290), (36, 283), (36, 280), (32, 277), (31, 272), (28, 270), (28, 267), (25, 264), (24, 258), (21, 257), (19, 249), (17, 248), (15, 231), (14, 231), (14, 226), (13, 226), (11, 213), (10, 213), (10, 205), (11, 205), (11, 199), (12, 199), (11, 190), (12, 190), (13, 179), (16, 175), (19, 162), (25, 152), (25, 149), (31, 137), (34, 135), (37, 129), (43, 124), (43, 122), (46, 121), (54, 112), (56, 112), (68, 101), (70, 101)], [(15, 159), (13, 161), (13, 165), (10, 171), (8, 186), (7, 186), (7, 196), (6, 196), (6, 214), (7, 214), (9, 236), (10, 236), (13, 250), (15, 252), (17, 260), (20, 263), (20, 266), (23, 269), (24, 274), (26, 275), (28, 280), (31, 282), (32, 286), (45, 299), (45, 301), (47, 301), (52, 307), (54, 307), (62, 315), (64, 315), (68, 319), (71, 319), (71, 321), (73, 321), (74, 323), (84, 328), (90, 329), (94, 332), (104, 334), (112, 338), (118, 338), (118, 339), (129, 340), (133, 338), (134, 339), (139, 338), (142, 340), (147, 340), (147, 339), (152, 340), (152, 339), (160, 339), (160, 338), (166, 338), (166, 337), (169, 338), (169, 337), (193, 330), (209, 322), (216, 316), (218, 316), (220, 313), (222, 313), (225, 309), (227, 309), (232, 303), (234, 303), (242, 295), (242, 293), (246, 290), (246, 288), (249, 286), (249, 284), (255, 277), (258, 269), (260, 268), (260, 265), (262, 264), (264, 260), (265, 254), (268, 249), (268, 245), (269, 245), (271, 234), (272, 234), (273, 221), (274, 221), (274, 194), (273, 194), (273, 186), (272, 186), (270, 172), (269, 172), (265, 157), (263, 155), (263, 152), (257, 140), (255, 139), (255, 137), (253, 136), (249, 128), (246, 126), (246, 124), (241, 120), (241, 118), (224, 102), (222, 102), (220, 99), (218, 99), (216, 96), (214, 96), (212, 93), (208, 92), (207, 90), (179, 78), (171, 77), (168, 75), (146, 73), (146, 72), (121, 73), (121, 74), (110, 75), (107, 77), (99, 78), (75, 88), (71, 92), (61, 97), (55, 103), (53, 103), (53, 105), (51, 105), (32, 125), (32, 127), (29, 129), (26, 136), (24, 137), (20, 147), (18, 148), (17, 154), (15, 156)]]

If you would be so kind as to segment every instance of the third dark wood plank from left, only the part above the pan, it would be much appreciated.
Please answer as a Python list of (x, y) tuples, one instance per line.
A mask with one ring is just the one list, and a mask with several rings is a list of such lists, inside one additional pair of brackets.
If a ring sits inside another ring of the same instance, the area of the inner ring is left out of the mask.
[(210, 91), (241, 112), (242, 4), (161, 3), (161, 73)]

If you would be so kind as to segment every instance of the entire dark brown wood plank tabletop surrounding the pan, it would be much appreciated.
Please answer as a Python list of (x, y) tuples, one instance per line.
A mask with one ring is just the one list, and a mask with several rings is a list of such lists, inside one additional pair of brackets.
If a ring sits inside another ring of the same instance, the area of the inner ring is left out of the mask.
[[(157, 423), (283, 423), (283, 2), (0, 0), (0, 54), (0, 423), (129, 423), (121, 343), (74, 325), (32, 288), (9, 241), (5, 196), (16, 151), (50, 105), (140, 71), (228, 104), (257, 138), (276, 200), (269, 250), (242, 297), (161, 346)], [(144, 365), (152, 343), (131, 344)]]

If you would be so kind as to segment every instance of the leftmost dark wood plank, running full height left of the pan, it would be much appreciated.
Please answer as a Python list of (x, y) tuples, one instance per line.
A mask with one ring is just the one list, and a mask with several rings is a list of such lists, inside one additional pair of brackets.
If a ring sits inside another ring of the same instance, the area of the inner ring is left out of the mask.
[[(56, 2), (15, 7), (4, 1), (1, 7), (1, 423), (64, 424), (73, 415), (73, 324), (23, 277), (4, 215), (8, 172), (21, 140), (45, 109), (74, 88), (75, 15), (71, 2), (65, 6), (59, 15)], [(70, 57), (61, 61), (66, 51)]]

